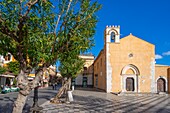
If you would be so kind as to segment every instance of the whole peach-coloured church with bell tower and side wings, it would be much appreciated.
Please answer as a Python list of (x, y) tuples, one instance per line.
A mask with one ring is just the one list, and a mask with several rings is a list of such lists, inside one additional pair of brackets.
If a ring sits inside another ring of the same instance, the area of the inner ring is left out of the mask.
[(106, 92), (170, 93), (170, 66), (155, 64), (155, 45), (120, 26), (107, 26), (104, 48), (94, 61), (94, 87)]

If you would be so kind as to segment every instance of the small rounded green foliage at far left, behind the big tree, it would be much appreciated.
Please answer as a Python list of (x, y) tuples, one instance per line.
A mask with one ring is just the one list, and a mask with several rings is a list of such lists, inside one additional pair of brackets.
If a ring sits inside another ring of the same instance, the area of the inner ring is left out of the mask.
[(19, 62), (18, 61), (9, 62), (7, 64), (7, 68), (8, 68), (8, 71), (12, 72), (15, 75), (19, 74)]

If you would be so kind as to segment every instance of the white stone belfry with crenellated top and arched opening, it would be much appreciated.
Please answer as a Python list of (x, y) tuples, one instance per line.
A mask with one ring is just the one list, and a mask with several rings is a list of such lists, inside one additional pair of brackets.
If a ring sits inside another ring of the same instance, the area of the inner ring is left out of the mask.
[(120, 43), (120, 26), (106, 26), (105, 44), (108, 42)]

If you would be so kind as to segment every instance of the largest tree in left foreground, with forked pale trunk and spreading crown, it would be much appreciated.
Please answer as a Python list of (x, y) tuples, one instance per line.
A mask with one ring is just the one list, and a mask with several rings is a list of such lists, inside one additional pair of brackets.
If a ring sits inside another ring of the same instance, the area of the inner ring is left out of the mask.
[[(10, 52), (21, 70), (18, 84), (22, 90), (14, 113), (22, 112), (46, 67), (68, 51), (78, 54), (94, 45), (100, 7), (91, 0), (0, 0), (0, 54)], [(27, 75), (33, 68), (36, 77), (30, 83)]]

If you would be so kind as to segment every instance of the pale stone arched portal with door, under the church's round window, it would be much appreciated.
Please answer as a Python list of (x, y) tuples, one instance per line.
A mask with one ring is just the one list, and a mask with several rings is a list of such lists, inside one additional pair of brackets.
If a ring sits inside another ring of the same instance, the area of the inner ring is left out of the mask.
[(129, 64), (126, 65), (121, 72), (121, 88), (122, 92), (138, 92), (139, 84), (138, 84), (138, 68)]

